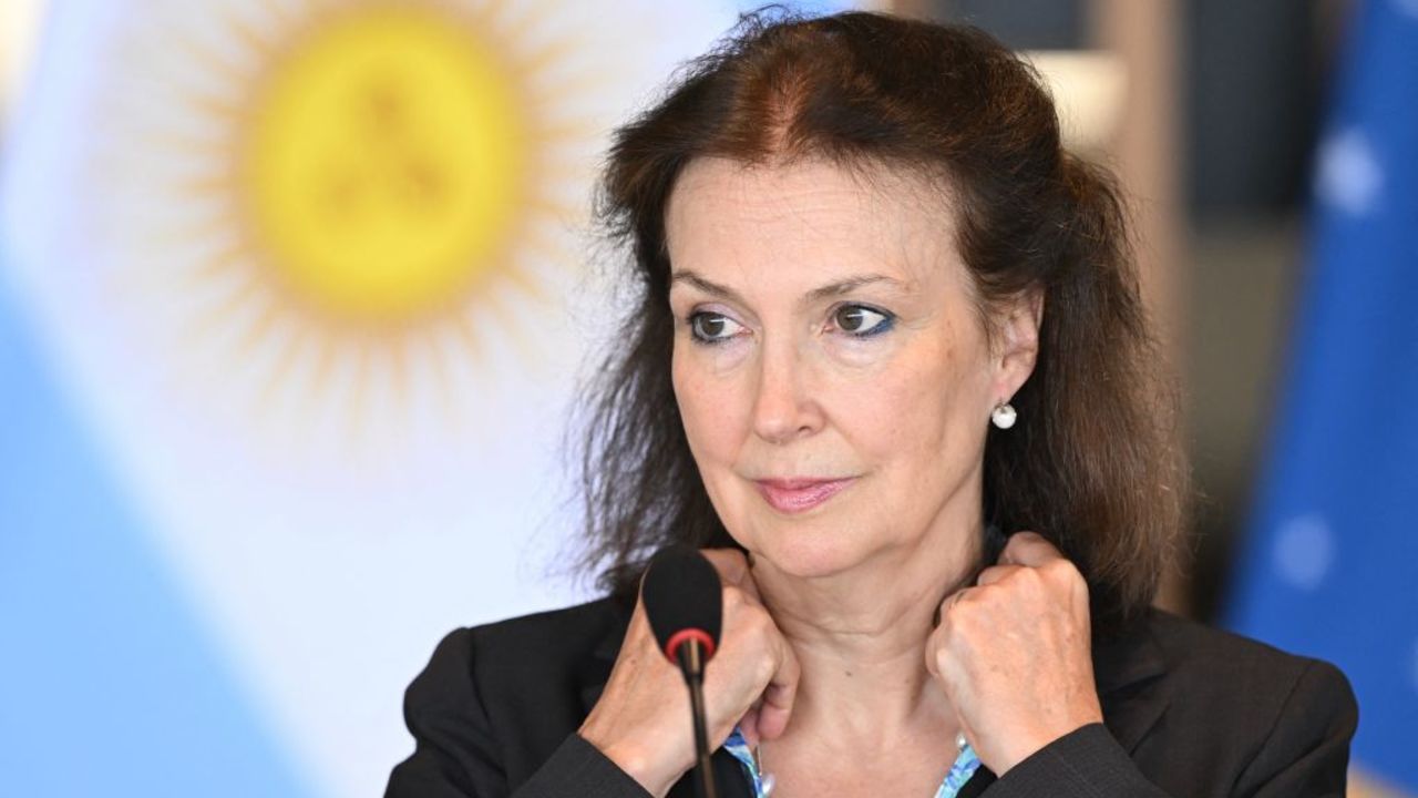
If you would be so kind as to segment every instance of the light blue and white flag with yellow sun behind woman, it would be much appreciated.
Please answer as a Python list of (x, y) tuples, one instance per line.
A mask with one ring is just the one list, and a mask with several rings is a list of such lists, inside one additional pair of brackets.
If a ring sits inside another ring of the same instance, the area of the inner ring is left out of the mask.
[(6, 795), (354, 797), (567, 603), (605, 133), (733, 3), (54, 0), (0, 162)]

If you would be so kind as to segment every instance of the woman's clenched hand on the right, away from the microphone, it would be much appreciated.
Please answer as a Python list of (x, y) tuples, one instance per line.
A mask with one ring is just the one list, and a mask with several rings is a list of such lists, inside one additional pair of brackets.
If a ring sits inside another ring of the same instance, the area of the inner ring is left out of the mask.
[(1035, 532), (1011, 535), (998, 565), (942, 602), (926, 667), (944, 687), (980, 761), (998, 775), (1103, 720), (1088, 585)]

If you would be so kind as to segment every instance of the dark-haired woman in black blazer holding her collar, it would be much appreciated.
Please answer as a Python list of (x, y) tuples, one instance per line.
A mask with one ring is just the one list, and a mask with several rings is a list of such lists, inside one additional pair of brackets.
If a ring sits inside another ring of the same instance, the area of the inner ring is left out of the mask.
[(586, 450), (614, 596), (450, 635), (389, 795), (689, 794), (635, 595), (674, 542), (725, 585), (722, 795), (1343, 794), (1333, 666), (1149, 609), (1187, 487), (1123, 214), (1004, 47), (750, 20), (603, 214), (642, 287)]

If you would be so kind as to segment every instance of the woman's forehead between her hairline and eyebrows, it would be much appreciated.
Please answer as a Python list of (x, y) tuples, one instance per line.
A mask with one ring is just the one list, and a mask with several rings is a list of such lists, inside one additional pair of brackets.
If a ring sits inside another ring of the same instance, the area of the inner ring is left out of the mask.
[(676, 270), (808, 264), (920, 283), (959, 266), (953, 219), (939, 182), (902, 169), (702, 158), (679, 175), (665, 231)]

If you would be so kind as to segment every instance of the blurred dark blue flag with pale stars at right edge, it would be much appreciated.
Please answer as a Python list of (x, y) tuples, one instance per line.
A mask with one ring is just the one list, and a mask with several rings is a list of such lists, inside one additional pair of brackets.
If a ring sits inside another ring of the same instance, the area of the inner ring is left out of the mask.
[(1229, 625), (1339, 665), (1354, 764), (1418, 791), (1418, 3), (1357, 9)]

